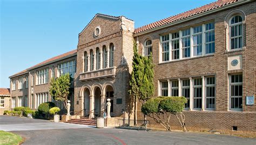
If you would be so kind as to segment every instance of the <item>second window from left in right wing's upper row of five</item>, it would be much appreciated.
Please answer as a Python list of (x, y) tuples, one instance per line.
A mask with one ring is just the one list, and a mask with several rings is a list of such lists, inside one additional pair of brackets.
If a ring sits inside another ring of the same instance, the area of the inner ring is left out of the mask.
[(172, 60), (179, 59), (179, 32), (172, 33)]

